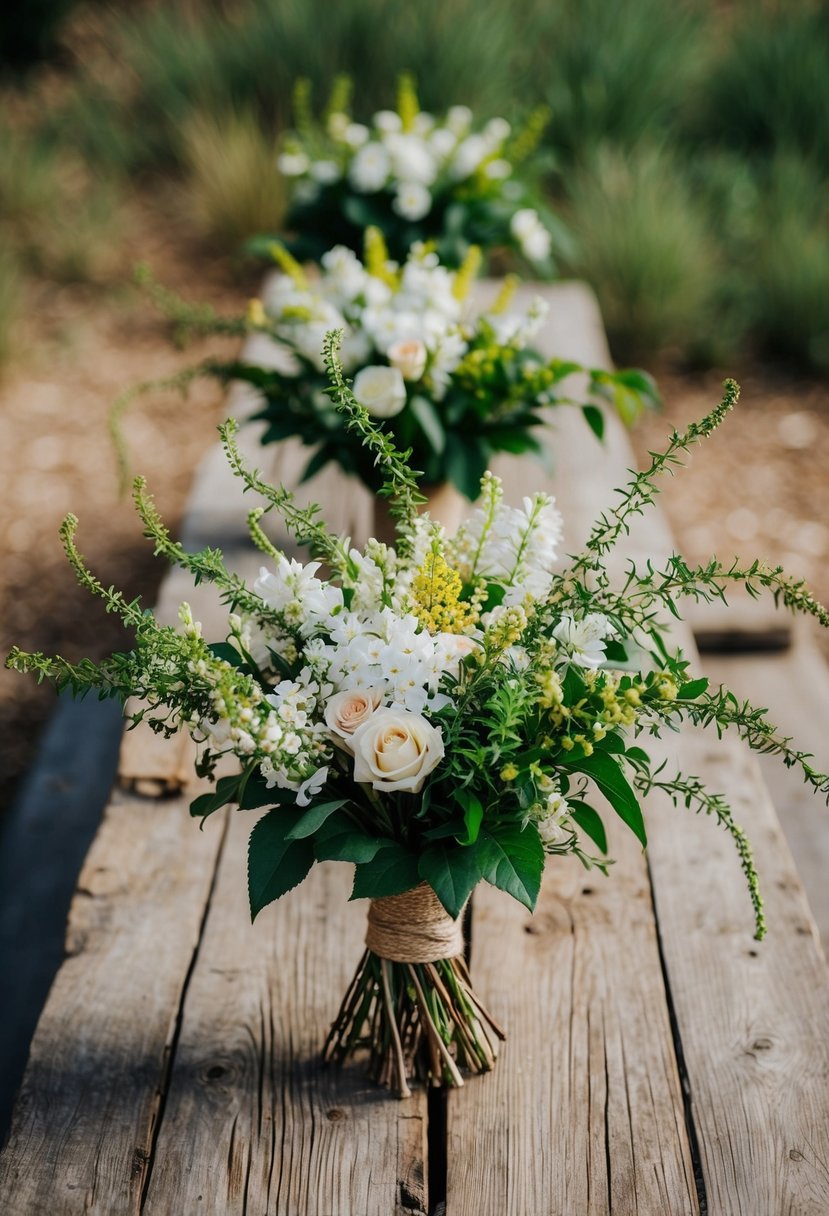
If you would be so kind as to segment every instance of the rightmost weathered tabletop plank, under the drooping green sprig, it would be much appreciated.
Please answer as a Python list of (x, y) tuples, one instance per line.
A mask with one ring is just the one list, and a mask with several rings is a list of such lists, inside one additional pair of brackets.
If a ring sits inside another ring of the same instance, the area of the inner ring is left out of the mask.
[[(709, 1211), (829, 1211), (829, 976), (754, 758), (683, 737), (682, 765), (750, 834), (769, 924), (755, 942), (733, 850), (714, 824), (648, 806), (656, 912)], [(615, 876), (614, 876), (615, 877)]]

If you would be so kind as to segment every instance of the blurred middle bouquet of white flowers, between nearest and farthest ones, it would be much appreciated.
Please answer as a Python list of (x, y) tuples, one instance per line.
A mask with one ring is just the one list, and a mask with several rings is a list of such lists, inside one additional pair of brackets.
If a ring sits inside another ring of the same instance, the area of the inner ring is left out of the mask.
[[(304, 478), (333, 461), (371, 490), (379, 490), (382, 480), (372, 452), (327, 393), (321, 350), (331, 330), (343, 330), (340, 358), (354, 376), (360, 404), (384, 421), (400, 449), (411, 450), (425, 484), (450, 483), (469, 500), (478, 497), (496, 452), (543, 454), (534, 432), (543, 426), (545, 407), (580, 404), (600, 437), (597, 399), (609, 399), (627, 422), (658, 402), (644, 372), (542, 359), (530, 343), (547, 305), (538, 298), (525, 314), (509, 311), (512, 281), (487, 313), (472, 315), (468, 294), (476, 250), (451, 271), (434, 252), (417, 246), (399, 266), (389, 259), (379, 230), (368, 229), (365, 264), (338, 246), (323, 254), (314, 276), (284, 246), (275, 242), (271, 252), (283, 274), (264, 300), (252, 302), (247, 327), (267, 334), (289, 358), (278, 366), (277, 360), (267, 366), (244, 359), (210, 361), (196, 372), (253, 384), (264, 399), (255, 415), (267, 423), (263, 443), (297, 437), (314, 449)], [(165, 299), (159, 303), (164, 306)], [(167, 304), (181, 321), (184, 314)], [(194, 323), (210, 331), (202, 314)], [(227, 325), (215, 320), (216, 330)], [(577, 371), (587, 373), (587, 384), (582, 399), (574, 401), (564, 382)]]

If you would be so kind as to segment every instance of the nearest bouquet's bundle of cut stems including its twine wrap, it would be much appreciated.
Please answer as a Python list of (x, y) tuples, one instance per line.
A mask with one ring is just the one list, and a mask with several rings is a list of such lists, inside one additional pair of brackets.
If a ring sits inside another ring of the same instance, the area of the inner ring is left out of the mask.
[[(418, 912), (425, 916), (418, 918)], [(436, 931), (435, 931), (436, 930)], [(425, 884), (373, 900), (368, 948), (328, 1032), (323, 1058), (337, 1064), (368, 1048), (379, 1085), (411, 1093), (408, 1081), (462, 1086), (461, 1070), (487, 1073), (504, 1031), (475, 995), (463, 958), (461, 918), (452, 921)], [(451, 957), (434, 957), (444, 948)]]

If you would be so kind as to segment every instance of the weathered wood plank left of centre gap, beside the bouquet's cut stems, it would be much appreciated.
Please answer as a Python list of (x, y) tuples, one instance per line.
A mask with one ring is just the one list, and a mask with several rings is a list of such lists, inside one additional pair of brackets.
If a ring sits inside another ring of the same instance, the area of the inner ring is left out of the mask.
[(363, 950), (350, 867), (260, 914), (235, 815), (187, 987), (145, 1212), (423, 1214), (425, 1094), (400, 1103), (320, 1049)]

